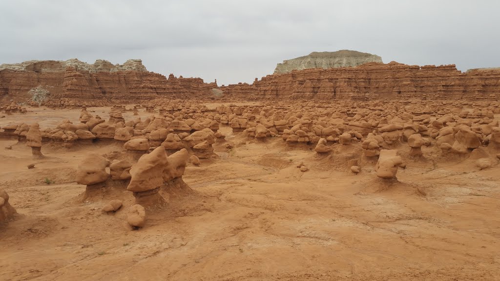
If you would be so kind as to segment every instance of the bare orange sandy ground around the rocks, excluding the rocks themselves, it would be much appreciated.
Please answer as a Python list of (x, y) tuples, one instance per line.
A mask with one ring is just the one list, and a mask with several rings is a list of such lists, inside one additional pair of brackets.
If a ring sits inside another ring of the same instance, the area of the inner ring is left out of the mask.
[[(78, 112), (36, 108), (0, 125), (54, 126)], [(33, 159), (25, 144), (0, 140), (1, 187), (20, 213), (0, 226), (0, 280), (500, 280), (498, 165), (405, 159), (398, 182), (384, 185), (374, 163), (355, 175), (335, 154), (221, 132), (234, 148), (216, 143), (218, 159), (186, 168), (196, 194), (169, 198), (138, 230), (124, 220), (130, 192), (113, 215), (103, 201), (77, 200), (85, 151), (120, 144), (43, 146), (46, 157)]]

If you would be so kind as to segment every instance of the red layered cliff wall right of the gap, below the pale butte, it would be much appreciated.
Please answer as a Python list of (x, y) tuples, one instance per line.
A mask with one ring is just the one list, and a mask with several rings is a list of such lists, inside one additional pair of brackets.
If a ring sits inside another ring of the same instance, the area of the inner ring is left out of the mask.
[(278, 73), (253, 84), (219, 87), (227, 98), (260, 99), (407, 99), (500, 98), (500, 70), (462, 73), (451, 65), (365, 63), (357, 67), (304, 69)]

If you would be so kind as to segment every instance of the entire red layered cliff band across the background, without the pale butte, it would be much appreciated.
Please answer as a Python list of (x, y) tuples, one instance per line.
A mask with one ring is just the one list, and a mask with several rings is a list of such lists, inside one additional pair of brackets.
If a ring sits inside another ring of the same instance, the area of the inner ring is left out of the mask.
[[(30, 61), (0, 67), (0, 103), (10, 100), (52, 105), (142, 103), (156, 98), (270, 100), (460, 99), (498, 100), (500, 69), (465, 73), (455, 65), (370, 62), (356, 67), (312, 68), (275, 73), (217, 87), (200, 78), (148, 72), (140, 60)], [(220, 92), (220, 90), (222, 92)]]

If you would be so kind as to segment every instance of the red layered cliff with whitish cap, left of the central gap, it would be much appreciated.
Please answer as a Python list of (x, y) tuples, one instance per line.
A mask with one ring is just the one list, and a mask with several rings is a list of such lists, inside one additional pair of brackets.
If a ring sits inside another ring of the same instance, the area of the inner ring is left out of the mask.
[[(139, 102), (158, 97), (207, 95), (216, 83), (200, 78), (168, 79), (149, 72), (140, 59), (113, 65), (106, 60), (87, 64), (66, 61), (26, 61), (0, 66), (0, 101), (28, 101), (55, 105)], [(36, 92), (36, 99), (33, 93)]]

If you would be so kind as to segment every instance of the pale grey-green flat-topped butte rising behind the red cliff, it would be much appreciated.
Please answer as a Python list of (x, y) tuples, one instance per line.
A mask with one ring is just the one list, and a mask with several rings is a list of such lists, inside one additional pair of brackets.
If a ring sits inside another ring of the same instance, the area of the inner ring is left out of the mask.
[(274, 73), (288, 73), (308, 68), (336, 68), (357, 66), (366, 62), (382, 62), (378, 55), (355, 50), (311, 52), (308, 55), (283, 60), (276, 65)]

